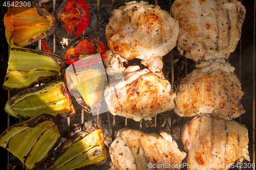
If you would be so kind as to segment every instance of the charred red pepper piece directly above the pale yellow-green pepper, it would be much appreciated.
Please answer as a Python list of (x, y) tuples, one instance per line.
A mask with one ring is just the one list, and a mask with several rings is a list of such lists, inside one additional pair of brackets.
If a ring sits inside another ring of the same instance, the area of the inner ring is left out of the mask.
[(100, 62), (105, 57), (105, 52), (106, 46), (101, 41), (82, 36), (80, 39), (71, 43), (66, 48), (66, 50), (62, 53), (61, 58), (67, 64), (72, 64), (82, 58), (94, 54), (100, 54), (101, 58), (97, 58), (98, 61), (94, 59), (93, 61), (82, 60), (76, 62), (77, 67), (86, 67)]

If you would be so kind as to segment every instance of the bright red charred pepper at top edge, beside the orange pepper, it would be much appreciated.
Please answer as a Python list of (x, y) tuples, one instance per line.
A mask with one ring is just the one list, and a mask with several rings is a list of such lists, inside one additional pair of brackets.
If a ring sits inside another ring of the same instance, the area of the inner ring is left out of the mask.
[(59, 6), (57, 24), (67, 38), (79, 36), (89, 24), (89, 8), (84, 0), (64, 0)]

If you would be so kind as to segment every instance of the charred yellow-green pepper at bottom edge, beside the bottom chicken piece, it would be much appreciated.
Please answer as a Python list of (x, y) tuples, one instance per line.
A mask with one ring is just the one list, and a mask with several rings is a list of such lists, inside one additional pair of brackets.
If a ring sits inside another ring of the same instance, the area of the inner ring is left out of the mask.
[(100, 128), (90, 128), (63, 142), (45, 163), (44, 169), (77, 169), (106, 162), (108, 147)]

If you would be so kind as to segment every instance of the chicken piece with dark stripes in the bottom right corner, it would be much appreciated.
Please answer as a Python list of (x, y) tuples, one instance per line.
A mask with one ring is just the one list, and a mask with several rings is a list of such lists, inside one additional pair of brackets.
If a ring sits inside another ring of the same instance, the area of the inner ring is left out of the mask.
[(188, 151), (188, 169), (228, 169), (236, 160), (250, 161), (248, 131), (234, 120), (196, 116), (184, 125), (181, 139)]

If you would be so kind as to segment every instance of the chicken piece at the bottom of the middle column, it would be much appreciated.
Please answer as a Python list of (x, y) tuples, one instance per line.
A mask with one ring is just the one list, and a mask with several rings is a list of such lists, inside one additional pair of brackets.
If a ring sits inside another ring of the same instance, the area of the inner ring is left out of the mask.
[[(157, 135), (121, 129), (110, 145), (110, 156), (113, 163), (110, 168), (112, 170), (167, 169), (166, 167), (175, 169), (171, 168), (171, 165), (179, 167), (186, 153), (181, 152), (177, 143), (172, 140), (172, 136), (165, 132)], [(165, 167), (153, 168), (160, 164)]]

